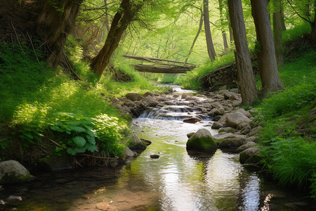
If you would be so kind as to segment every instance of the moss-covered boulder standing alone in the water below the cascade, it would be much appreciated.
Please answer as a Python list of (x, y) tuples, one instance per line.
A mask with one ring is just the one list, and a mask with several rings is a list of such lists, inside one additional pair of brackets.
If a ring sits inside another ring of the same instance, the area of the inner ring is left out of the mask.
[(217, 148), (217, 143), (212, 138), (208, 129), (199, 129), (187, 140), (187, 149), (209, 150)]

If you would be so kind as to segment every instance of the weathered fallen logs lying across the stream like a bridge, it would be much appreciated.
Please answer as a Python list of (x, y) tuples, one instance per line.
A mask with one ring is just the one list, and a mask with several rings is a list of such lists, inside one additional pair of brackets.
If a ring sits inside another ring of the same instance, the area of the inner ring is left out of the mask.
[(155, 65), (144, 65), (144, 64), (133, 65), (135, 70), (138, 70), (139, 72), (176, 74), (176, 73), (185, 73), (197, 67), (195, 65), (183, 63), (177, 60), (167, 60), (167, 59), (162, 59), (162, 58), (148, 58), (148, 57), (143, 57), (143, 56), (131, 56), (131, 55), (124, 55), (124, 57), (135, 59), (135, 60), (142, 60), (147, 63), (155, 64)]

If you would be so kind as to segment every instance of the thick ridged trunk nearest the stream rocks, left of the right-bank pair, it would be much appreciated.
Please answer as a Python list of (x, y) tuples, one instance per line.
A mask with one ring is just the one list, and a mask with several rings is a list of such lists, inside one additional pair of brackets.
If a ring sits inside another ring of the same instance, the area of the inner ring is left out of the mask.
[(242, 0), (228, 0), (228, 8), (235, 39), (237, 80), (240, 94), (242, 95), (242, 103), (254, 103), (257, 96), (256, 82), (246, 41)]

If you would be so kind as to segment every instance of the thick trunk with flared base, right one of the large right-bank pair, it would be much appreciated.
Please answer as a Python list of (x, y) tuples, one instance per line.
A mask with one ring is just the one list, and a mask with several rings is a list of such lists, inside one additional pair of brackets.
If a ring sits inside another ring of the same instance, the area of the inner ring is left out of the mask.
[(250, 2), (259, 46), (256, 53), (262, 83), (262, 94), (266, 96), (270, 91), (277, 91), (284, 89), (284, 87), (279, 79), (279, 72), (277, 70), (275, 45), (267, 9), (268, 1), (251, 0)]

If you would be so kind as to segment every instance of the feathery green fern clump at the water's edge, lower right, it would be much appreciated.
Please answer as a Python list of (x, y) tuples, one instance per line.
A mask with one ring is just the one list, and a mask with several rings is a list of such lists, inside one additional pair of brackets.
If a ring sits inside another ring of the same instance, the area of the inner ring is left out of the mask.
[(265, 165), (268, 165), (273, 177), (280, 184), (294, 184), (304, 188), (310, 179), (315, 179), (315, 141), (307, 142), (301, 137), (284, 139), (276, 136), (264, 143), (269, 144), (261, 148)]

